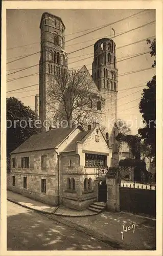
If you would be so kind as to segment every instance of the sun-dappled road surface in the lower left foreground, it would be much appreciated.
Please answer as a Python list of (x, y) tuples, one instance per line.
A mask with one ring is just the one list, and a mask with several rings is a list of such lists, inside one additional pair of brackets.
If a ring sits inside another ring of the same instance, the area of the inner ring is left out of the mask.
[(7, 250), (113, 250), (95, 238), (7, 201)]

